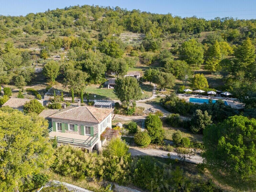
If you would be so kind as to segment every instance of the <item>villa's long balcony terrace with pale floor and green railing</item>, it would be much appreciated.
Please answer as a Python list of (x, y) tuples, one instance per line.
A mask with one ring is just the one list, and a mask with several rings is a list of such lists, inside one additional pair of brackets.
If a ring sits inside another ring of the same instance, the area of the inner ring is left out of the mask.
[(59, 131), (52, 131), (52, 127), (49, 128), (48, 132), (50, 139), (54, 139), (54, 137), (56, 137), (58, 142), (75, 144), (84, 147), (91, 147), (94, 144), (94, 142), (98, 140), (98, 134), (96, 134), (95, 136), (88, 136), (72, 133), (62, 133)]

